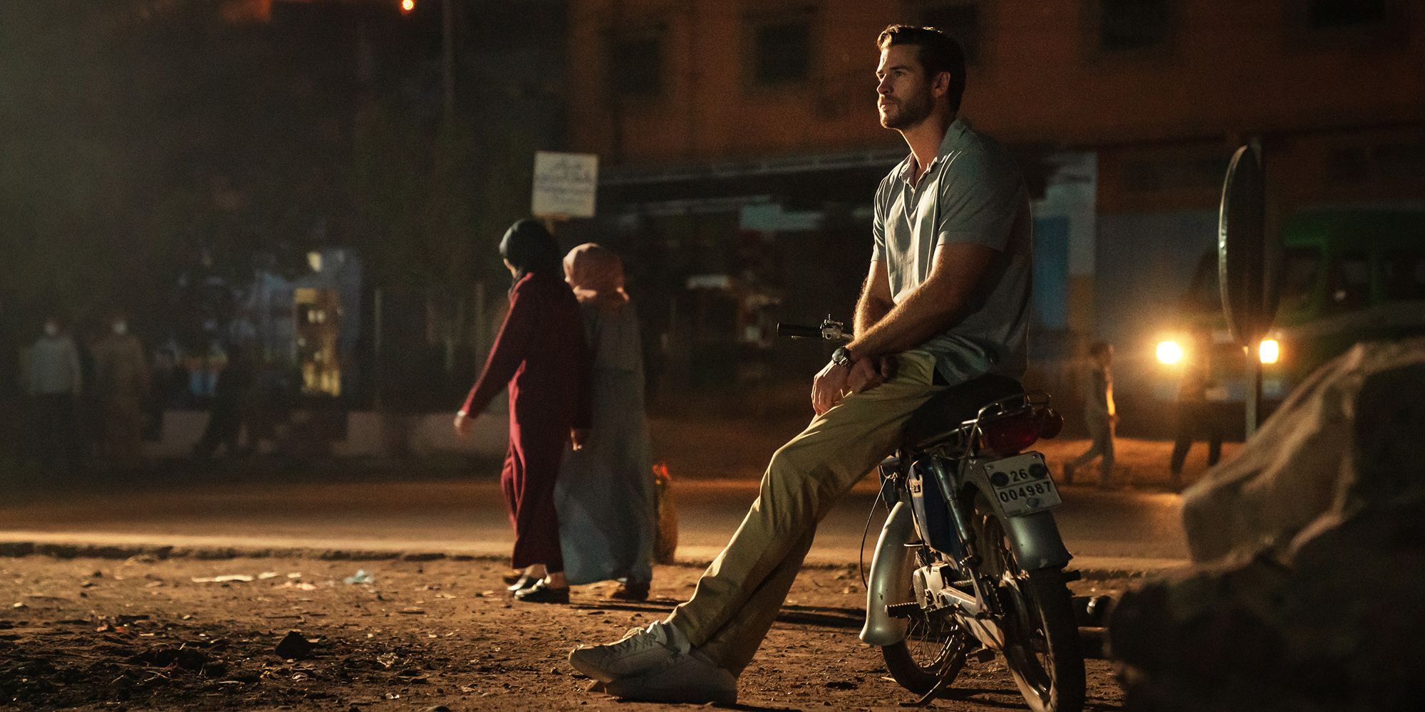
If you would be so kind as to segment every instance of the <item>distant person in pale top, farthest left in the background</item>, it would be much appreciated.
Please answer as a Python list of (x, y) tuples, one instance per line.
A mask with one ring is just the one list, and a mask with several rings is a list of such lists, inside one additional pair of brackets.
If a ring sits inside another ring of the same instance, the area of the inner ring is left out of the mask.
[(84, 377), (78, 346), (57, 316), (46, 318), (44, 333), (24, 359), (23, 377), (40, 463), (51, 471), (78, 471), (84, 444), (76, 409)]

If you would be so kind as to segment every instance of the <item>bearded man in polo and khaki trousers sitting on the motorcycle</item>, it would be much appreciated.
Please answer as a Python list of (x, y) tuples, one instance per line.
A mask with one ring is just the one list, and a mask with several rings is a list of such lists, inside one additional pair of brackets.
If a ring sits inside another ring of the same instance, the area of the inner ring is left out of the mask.
[[(758, 498), (693, 598), (570, 662), (604, 692), (735, 703), (811, 548), (818, 520), (899, 443), (932, 396), (973, 417), (1023, 393), (1030, 305), (1029, 192), (1009, 151), (956, 117), (965, 54), (949, 36), (892, 26), (876, 38), (881, 125), (911, 154), (875, 194), (871, 269), (855, 339), (812, 382), (817, 416), (782, 446)], [(831, 259), (845, 259), (835, 255)]]

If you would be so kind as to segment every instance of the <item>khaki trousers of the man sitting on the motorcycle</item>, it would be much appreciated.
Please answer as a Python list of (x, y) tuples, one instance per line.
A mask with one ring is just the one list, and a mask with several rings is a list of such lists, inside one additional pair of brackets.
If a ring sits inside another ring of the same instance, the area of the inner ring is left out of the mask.
[(693, 598), (668, 617), (694, 648), (734, 675), (772, 627), (817, 523), (895, 450), (911, 414), (945, 390), (933, 384), (931, 355), (906, 352), (899, 359), (895, 379), (846, 396), (777, 450), (747, 518), (703, 572)]

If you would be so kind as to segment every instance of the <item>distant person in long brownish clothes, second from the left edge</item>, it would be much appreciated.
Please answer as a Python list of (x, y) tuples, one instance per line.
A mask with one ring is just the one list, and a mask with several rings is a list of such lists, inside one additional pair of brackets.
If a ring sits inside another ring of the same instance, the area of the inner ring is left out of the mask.
[(94, 393), (100, 409), (100, 451), (110, 470), (131, 473), (144, 460), (144, 403), (150, 373), (144, 345), (115, 313), (94, 342)]

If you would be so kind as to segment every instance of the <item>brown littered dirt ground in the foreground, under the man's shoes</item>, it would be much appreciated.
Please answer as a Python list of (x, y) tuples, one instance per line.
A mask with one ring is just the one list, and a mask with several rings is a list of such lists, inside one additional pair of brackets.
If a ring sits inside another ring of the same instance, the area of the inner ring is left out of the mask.
[[(362, 568), (372, 582), (346, 584)], [(6, 709), (650, 709), (586, 692), (566, 662), (661, 618), (700, 570), (658, 567), (647, 604), (574, 590), (510, 601), (497, 561), (0, 558)], [(249, 581), (211, 581), (225, 575)], [(208, 581), (204, 581), (208, 580)], [(1123, 581), (1080, 581), (1079, 594)], [(741, 709), (901, 709), (912, 696), (859, 639), (855, 568), (809, 568), (752, 666)], [(276, 651), (279, 642), (295, 651)], [(309, 648), (302, 651), (301, 648)], [(969, 664), (936, 709), (1022, 709), (1000, 662)], [(1090, 711), (1121, 709), (1089, 661)]]

